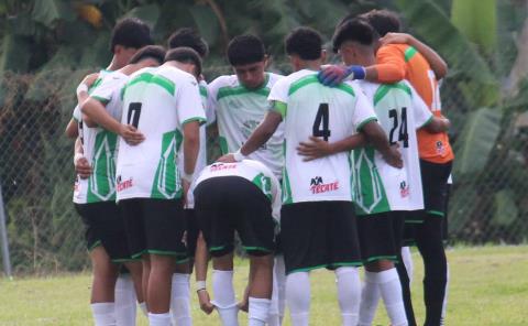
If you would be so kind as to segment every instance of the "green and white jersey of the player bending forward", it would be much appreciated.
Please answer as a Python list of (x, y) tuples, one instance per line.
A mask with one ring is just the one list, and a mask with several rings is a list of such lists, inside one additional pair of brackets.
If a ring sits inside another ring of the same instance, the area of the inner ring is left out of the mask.
[(243, 160), (235, 163), (213, 163), (204, 169), (193, 184), (191, 191), (206, 180), (221, 176), (240, 176), (252, 182), (270, 198), (273, 217), (280, 221), (280, 185), (277, 177), (266, 165), (254, 160)]

